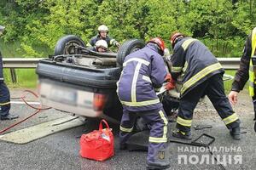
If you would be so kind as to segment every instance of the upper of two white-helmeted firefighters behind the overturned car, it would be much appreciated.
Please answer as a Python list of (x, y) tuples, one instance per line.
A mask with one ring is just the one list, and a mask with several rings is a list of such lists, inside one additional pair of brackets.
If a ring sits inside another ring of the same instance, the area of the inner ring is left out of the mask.
[(120, 44), (118, 41), (113, 39), (112, 37), (108, 37), (108, 27), (105, 25), (98, 27), (98, 34), (95, 37), (90, 38), (90, 42), (86, 44), (87, 47), (93, 47), (95, 46), (96, 42), (99, 40), (105, 40), (108, 42), (108, 47), (115, 46), (120, 47)]

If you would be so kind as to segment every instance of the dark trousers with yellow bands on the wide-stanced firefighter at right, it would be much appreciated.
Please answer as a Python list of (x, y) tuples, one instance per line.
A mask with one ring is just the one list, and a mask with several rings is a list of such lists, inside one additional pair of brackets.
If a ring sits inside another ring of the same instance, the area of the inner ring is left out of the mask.
[(209, 77), (205, 82), (191, 89), (188, 94), (184, 95), (179, 104), (177, 115), (177, 129), (184, 133), (190, 131), (192, 124), (193, 111), (199, 102), (199, 99), (207, 95), (212, 105), (218, 112), (218, 115), (224, 121), (226, 127), (234, 128), (240, 126), (240, 120), (233, 111), (229, 99), (224, 94), (223, 75), (216, 74)]

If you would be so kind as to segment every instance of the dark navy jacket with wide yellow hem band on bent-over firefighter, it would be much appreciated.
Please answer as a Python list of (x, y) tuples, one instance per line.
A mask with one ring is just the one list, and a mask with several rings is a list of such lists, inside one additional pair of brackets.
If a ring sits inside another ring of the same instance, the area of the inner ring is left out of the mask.
[(179, 76), (182, 79), (183, 87), (180, 96), (182, 98), (209, 77), (224, 73), (224, 69), (210, 50), (199, 40), (183, 37), (177, 41), (171, 58), (171, 74), (175, 80)]

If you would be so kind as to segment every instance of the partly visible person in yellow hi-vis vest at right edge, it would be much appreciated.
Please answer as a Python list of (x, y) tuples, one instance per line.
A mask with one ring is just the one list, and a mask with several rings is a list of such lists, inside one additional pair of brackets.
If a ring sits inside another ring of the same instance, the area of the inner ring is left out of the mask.
[[(256, 65), (256, 27), (252, 33), (248, 35), (243, 54), (241, 56), (240, 68), (236, 71), (236, 77), (232, 83), (232, 89), (229, 94), (230, 102), (235, 105), (237, 102), (237, 94), (242, 90), (245, 83), (249, 79), (249, 94), (253, 98), (254, 121), (256, 120), (256, 96), (255, 96), (255, 65)], [(254, 66), (253, 66), (254, 65)], [(254, 124), (256, 132), (256, 122)]]

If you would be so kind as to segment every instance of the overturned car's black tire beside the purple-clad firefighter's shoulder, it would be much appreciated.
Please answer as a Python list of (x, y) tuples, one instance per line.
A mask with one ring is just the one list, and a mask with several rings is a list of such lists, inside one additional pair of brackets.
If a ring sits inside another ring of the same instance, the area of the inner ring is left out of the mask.
[(122, 46), (119, 48), (118, 54), (117, 54), (117, 65), (119, 67), (122, 67), (125, 57), (128, 54), (131, 54), (141, 48), (145, 47), (145, 42), (138, 39), (131, 39), (127, 40), (122, 44)]

